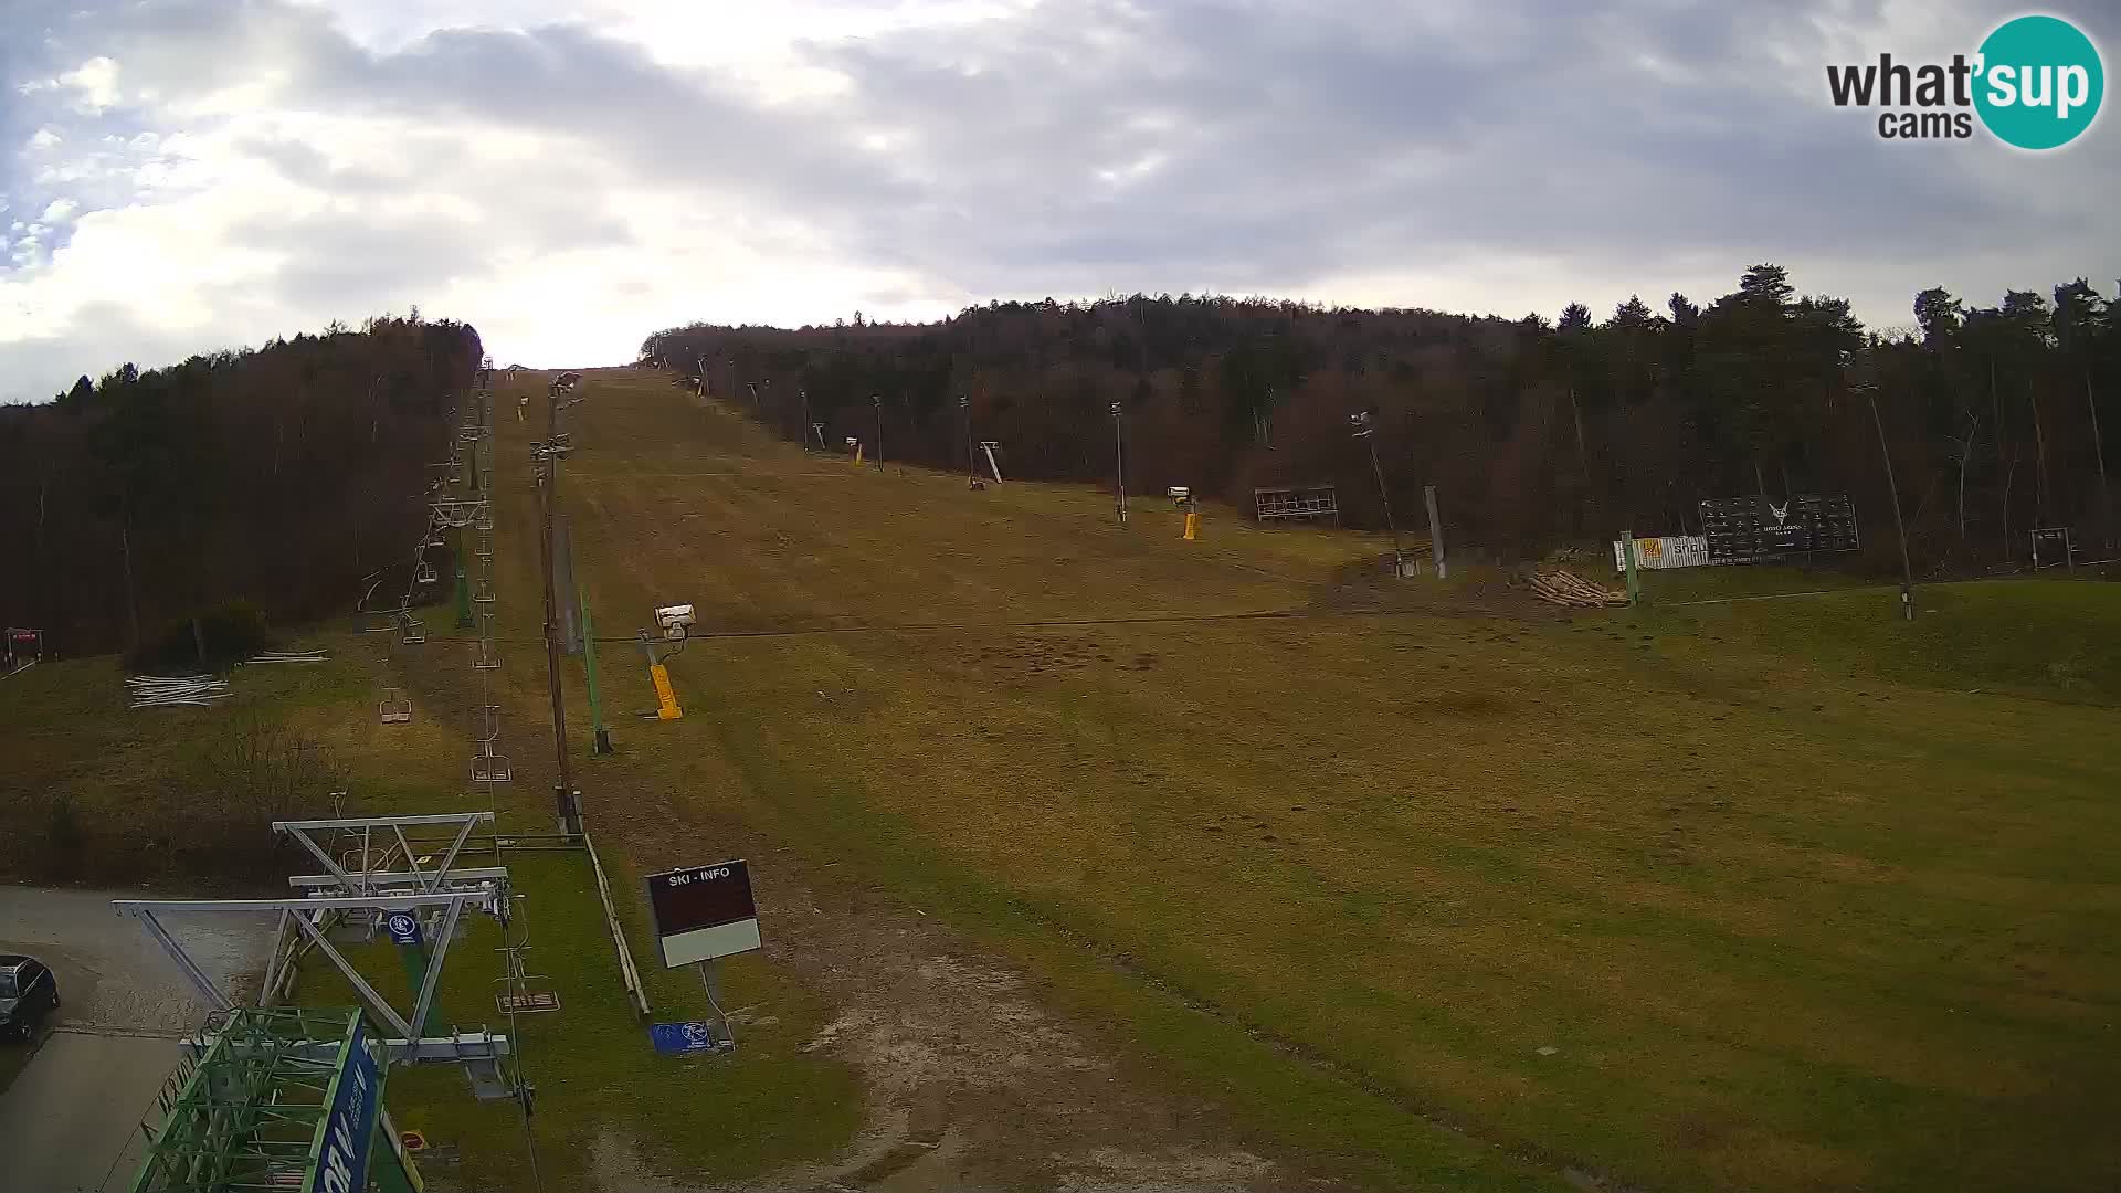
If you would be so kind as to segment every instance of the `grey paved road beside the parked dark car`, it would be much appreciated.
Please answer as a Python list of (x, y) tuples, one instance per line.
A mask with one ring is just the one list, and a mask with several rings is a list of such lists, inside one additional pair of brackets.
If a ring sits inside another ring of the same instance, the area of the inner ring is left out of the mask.
[[(0, 1044), (0, 1157), (8, 1189), (100, 1193), (140, 1168), (140, 1119), (176, 1066), (176, 1036), (206, 1008), (134, 919), (129, 892), (0, 885), (0, 953), (30, 953), (59, 976), (59, 1017), (30, 1044)], [(227, 989), (265, 968), (269, 917), (168, 917)], [(108, 1180), (108, 1185), (106, 1185)]]

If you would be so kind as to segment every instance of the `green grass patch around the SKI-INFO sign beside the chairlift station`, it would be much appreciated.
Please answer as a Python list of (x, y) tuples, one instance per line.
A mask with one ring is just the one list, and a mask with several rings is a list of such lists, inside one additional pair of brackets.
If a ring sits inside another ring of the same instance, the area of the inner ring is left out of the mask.
[[(501, 928), (475, 917), (452, 947), (437, 993), (437, 1023), (513, 1032), (524, 1076), (537, 1087), (534, 1134), (541, 1176), (560, 1187), (588, 1182), (590, 1157), (609, 1131), (641, 1146), (643, 1163), (672, 1178), (744, 1178), (825, 1155), (859, 1125), (859, 1089), (829, 1053), (800, 1047), (831, 1013), (755, 957), (725, 962), (723, 1006), (740, 1013), (740, 1047), (728, 1057), (660, 1057), (632, 1015), (611, 959), (588, 855), (507, 853), (526, 934), (526, 989), (551, 989), (560, 1010), (520, 1015), (494, 1008), (501, 987)], [(634, 885), (615, 872), (619, 894)], [(645, 938), (638, 904), (621, 900), (632, 938)], [(401, 1010), (411, 1004), (403, 966), (388, 943), (348, 949), (363, 974)], [(658, 1021), (704, 1019), (706, 998), (691, 970), (643, 968)], [(354, 991), (327, 964), (303, 972), (301, 1002), (350, 1006)], [(439, 1155), (431, 1174), (467, 1189), (520, 1189), (528, 1176), (522, 1119), (513, 1102), (475, 1102), (452, 1066), (399, 1070), (390, 1078), (399, 1129), (422, 1131)]]

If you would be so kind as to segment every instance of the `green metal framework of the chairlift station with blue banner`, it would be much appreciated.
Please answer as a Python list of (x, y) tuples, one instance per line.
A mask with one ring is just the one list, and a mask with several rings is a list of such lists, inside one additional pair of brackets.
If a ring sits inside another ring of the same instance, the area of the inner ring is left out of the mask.
[(134, 1193), (420, 1187), (382, 1112), (388, 1064), (358, 1010), (240, 1008), (204, 1040), (163, 1085)]

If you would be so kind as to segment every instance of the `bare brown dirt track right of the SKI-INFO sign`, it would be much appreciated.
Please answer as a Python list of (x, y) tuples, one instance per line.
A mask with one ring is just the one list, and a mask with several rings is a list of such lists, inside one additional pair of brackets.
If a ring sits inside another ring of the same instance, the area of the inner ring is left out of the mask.
[[(674, 815), (668, 802), (621, 785), (626, 811), (607, 811), (602, 832), (645, 868), (679, 862), (683, 845), (651, 830)], [(751, 860), (768, 959), (840, 1008), (806, 1049), (840, 1051), (867, 1089), (865, 1127), (842, 1155), (742, 1189), (1266, 1193), (1336, 1185), (1245, 1151), (1211, 1104), (1145, 1089), (1090, 1032), (1041, 1006), (1033, 979), (921, 909), (829, 877), (812, 885), (791, 851), (732, 824), (702, 824), (700, 834)], [(770, 1006), (736, 1013), (738, 1032), (766, 1015)], [(621, 1138), (604, 1140), (596, 1172), (607, 1193), (700, 1189), (647, 1172)]]

